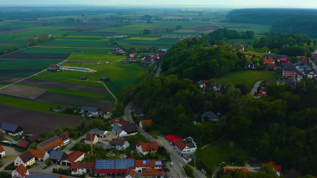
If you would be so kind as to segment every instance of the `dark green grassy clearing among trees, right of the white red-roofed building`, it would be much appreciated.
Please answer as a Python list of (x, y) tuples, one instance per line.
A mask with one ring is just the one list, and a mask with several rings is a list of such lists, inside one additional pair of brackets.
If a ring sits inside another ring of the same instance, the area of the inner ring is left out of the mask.
[(203, 162), (208, 165), (212, 170), (218, 167), (220, 163), (225, 162), (230, 165), (230, 157), (235, 156), (247, 160), (248, 153), (241, 148), (241, 146), (233, 143), (227, 139), (221, 139), (212, 142), (210, 145), (202, 149)]

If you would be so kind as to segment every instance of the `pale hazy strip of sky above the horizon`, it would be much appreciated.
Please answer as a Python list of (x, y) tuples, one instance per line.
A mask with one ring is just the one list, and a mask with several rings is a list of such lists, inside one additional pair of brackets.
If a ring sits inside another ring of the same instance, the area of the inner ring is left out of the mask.
[(317, 0), (0, 0), (0, 5), (210, 5), (317, 7)]

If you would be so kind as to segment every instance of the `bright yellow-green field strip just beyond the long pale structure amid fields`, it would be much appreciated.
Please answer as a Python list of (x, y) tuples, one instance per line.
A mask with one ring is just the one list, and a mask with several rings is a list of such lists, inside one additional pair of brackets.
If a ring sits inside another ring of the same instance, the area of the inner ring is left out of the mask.
[(69, 60), (119, 60), (126, 56), (108, 53), (71, 53)]

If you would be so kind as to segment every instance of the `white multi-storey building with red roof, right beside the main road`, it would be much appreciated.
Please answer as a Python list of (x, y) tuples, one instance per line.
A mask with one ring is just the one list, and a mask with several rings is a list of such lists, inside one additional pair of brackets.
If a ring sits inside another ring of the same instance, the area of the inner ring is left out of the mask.
[(175, 144), (175, 149), (182, 156), (183, 156), (183, 154), (187, 154), (190, 157), (193, 157), (195, 152), (196, 152), (197, 145), (194, 142), (192, 137), (188, 137), (188, 138), (185, 138), (183, 140), (178, 139), (176, 141), (176, 144)]

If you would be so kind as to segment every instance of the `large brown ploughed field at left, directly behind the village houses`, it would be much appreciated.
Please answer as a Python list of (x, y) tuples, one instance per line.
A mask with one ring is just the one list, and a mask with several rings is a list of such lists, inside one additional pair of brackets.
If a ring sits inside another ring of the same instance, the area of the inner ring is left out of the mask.
[[(23, 126), (25, 132), (31, 134), (41, 133), (44, 131), (50, 132), (56, 127), (76, 126), (81, 121), (78, 118), (48, 114), (4, 105), (0, 105), (0, 111), (2, 111), (0, 117), (1, 123), (8, 121), (7, 119), (10, 118), (10, 122), (18, 123)], [(21, 116), (23, 116), (23, 119)]]

